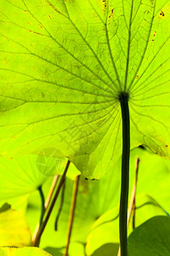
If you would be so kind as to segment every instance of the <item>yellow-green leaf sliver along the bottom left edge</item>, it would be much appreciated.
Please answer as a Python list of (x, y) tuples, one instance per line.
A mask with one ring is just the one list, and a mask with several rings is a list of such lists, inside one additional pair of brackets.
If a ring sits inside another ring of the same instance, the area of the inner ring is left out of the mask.
[(51, 256), (51, 254), (37, 247), (0, 248), (0, 256)]

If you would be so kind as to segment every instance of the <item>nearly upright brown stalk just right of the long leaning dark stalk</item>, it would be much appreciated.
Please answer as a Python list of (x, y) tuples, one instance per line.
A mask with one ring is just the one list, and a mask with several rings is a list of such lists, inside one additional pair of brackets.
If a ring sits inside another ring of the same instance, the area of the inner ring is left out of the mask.
[(66, 241), (66, 246), (65, 246), (65, 254), (64, 254), (65, 256), (68, 255), (69, 245), (70, 245), (70, 241), (71, 241), (72, 224), (73, 224), (76, 201), (77, 201), (78, 181), (79, 181), (79, 176), (76, 177), (75, 183), (74, 183), (74, 188), (73, 188), (72, 201), (71, 201), (71, 213), (70, 213), (69, 228), (68, 228), (68, 236), (67, 236), (67, 241)]

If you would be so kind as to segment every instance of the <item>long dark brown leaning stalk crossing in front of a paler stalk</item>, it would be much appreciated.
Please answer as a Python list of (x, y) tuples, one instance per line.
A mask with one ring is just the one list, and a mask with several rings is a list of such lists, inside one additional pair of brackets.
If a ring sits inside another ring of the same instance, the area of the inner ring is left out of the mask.
[(51, 212), (53, 211), (53, 208), (54, 208), (54, 205), (55, 205), (55, 201), (57, 200), (57, 198), (58, 198), (58, 196), (59, 196), (59, 191), (60, 191), (60, 189), (62, 188), (63, 183), (65, 183), (65, 175), (66, 175), (66, 172), (68, 171), (68, 168), (69, 168), (69, 166), (70, 166), (70, 163), (71, 163), (71, 161), (68, 160), (68, 161), (67, 161), (67, 164), (66, 164), (66, 166), (65, 166), (65, 172), (63, 173), (63, 175), (62, 175), (62, 177), (61, 177), (61, 179), (60, 179), (60, 181), (59, 181), (59, 186), (58, 186), (58, 188), (57, 188), (57, 190), (56, 190), (56, 192), (55, 192), (55, 194), (54, 194), (54, 198), (53, 198), (53, 200), (52, 200), (50, 206), (48, 207), (47, 215), (45, 216), (44, 221), (42, 222), (42, 226), (40, 227), (40, 230), (39, 230), (38, 233), (37, 233), (37, 237), (36, 237), (35, 243), (34, 243), (34, 246), (35, 246), (35, 247), (37, 247), (37, 245), (39, 244), (39, 241), (40, 241), (40, 239), (41, 239), (42, 233), (43, 233), (43, 231), (45, 230), (46, 225), (48, 224), (48, 219), (49, 219), (49, 217), (50, 217), (50, 215), (51, 215)]

